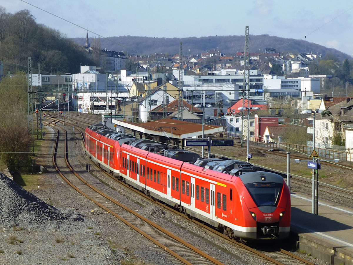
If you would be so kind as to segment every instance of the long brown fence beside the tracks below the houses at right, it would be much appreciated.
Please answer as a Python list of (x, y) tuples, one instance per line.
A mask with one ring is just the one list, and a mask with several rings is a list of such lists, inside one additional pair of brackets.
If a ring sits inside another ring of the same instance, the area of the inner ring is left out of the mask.
[[(227, 138), (233, 138), (234, 140), (240, 140), (241, 139), (241, 134), (236, 134), (236, 133), (231, 133), (228, 131), (223, 131), (223, 137)], [(243, 141), (247, 141), (247, 137), (243, 136)], [(285, 149), (288, 151), (297, 151), (301, 152), (307, 155), (310, 155), (313, 151), (312, 146), (306, 146), (306, 145), (297, 145), (295, 143), (286, 143), (286, 142), (257, 142), (255, 141), (255, 137), (250, 137), (250, 143), (252, 145), (259, 145), (266, 147), (268, 149)], [(317, 152), (319, 157), (324, 157), (328, 159), (340, 159), (340, 160), (345, 160), (345, 161), (350, 161), (352, 162), (353, 160), (353, 154), (347, 153), (344, 151), (337, 151), (333, 149), (326, 149), (326, 148), (321, 148), (321, 147), (316, 147), (315, 151)]]

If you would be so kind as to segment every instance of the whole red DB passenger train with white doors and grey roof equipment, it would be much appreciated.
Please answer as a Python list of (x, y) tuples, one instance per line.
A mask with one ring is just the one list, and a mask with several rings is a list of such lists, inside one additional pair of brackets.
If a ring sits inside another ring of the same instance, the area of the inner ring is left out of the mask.
[(168, 150), (162, 143), (100, 124), (86, 128), (85, 151), (114, 176), (231, 238), (289, 235), (291, 200), (280, 175), (242, 161), (200, 159), (189, 151)]

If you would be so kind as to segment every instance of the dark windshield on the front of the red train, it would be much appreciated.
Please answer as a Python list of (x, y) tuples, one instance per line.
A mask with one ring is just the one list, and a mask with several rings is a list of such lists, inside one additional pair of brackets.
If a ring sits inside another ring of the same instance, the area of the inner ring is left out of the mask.
[(276, 206), (282, 183), (249, 183), (245, 184), (252, 199), (259, 206)]

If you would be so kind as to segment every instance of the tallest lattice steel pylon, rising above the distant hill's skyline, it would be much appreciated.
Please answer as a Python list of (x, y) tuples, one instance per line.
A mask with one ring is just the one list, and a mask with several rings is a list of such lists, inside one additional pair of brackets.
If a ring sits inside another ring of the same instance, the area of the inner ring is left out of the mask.
[[(250, 54), (249, 54), (249, 26), (245, 26), (245, 46), (244, 46), (244, 79), (243, 79), (243, 107), (245, 107), (245, 102), (247, 101), (247, 107), (250, 107), (249, 102), (249, 92), (250, 92)], [(248, 110), (249, 111), (249, 110)], [(249, 124), (244, 128), (244, 110), (241, 117), (241, 141), (240, 146), (243, 147), (244, 134), (249, 135)], [(249, 123), (249, 122), (248, 122)]]

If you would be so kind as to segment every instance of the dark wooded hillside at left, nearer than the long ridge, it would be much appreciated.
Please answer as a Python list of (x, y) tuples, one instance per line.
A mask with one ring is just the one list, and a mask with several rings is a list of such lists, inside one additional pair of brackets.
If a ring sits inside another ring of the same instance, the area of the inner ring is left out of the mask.
[(0, 6), (0, 59), (4, 73), (40, 64), (42, 73), (76, 73), (80, 63), (92, 64), (85, 49), (55, 29), (37, 24), (29, 10), (7, 13)]

